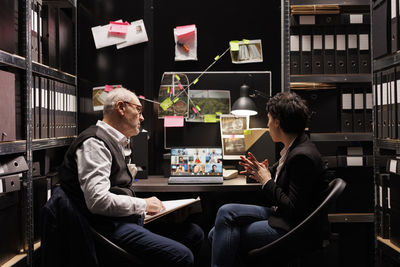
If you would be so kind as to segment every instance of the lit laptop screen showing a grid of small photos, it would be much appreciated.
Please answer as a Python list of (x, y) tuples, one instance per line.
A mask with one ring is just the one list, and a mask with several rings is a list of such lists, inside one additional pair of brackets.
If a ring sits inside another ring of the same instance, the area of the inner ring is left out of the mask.
[(171, 176), (222, 176), (222, 148), (171, 148)]

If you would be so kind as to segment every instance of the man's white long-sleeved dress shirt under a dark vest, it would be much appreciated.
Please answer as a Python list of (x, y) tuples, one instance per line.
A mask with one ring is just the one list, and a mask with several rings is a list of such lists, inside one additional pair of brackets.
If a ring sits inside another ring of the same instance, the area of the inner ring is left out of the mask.
[[(109, 136), (118, 142), (122, 155), (126, 156), (124, 148), (129, 143), (121, 132), (103, 121), (98, 121), (98, 127), (103, 128)], [(142, 198), (111, 193), (111, 153), (103, 141), (91, 137), (76, 150), (78, 178), (86, 206), (94, 214), (122, 217), (132, 214), (144, 216), (146, 201)]]

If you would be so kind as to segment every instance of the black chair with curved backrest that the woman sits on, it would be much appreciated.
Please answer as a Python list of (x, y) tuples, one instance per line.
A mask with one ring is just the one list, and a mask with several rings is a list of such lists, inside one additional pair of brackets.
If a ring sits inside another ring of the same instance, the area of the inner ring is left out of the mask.
[(307, 218), (270, 244), (249, 251), (246, 261), (251, 262), (251, 266), (263, 265), (263, 263), (265, 266), (301, 266), (304, 258), (326, 248), (329, 239), (324, 240), (325, 242), (313, 240), (313, 229), (310, 228), (317, 218), (321, 218), (324, 213), (327, 214), (330, 205), (340, 196), (345, 187), (346, 182), (341, 178), (331, 181), (326, 197)]

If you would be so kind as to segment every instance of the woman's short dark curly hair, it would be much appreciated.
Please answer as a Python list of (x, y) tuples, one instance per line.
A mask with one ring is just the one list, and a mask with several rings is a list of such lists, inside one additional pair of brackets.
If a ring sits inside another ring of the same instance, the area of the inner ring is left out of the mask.
[(267, 112), (280, 121), (280, 127), (285, 133), (303, 133), (310, 119), (306, 102), (293, 92), (281, 92), (271, 97), (267, 103)]

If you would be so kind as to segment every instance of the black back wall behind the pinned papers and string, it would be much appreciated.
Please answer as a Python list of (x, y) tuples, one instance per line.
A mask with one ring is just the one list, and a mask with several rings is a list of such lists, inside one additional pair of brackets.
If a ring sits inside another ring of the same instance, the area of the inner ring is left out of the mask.
[[(92, 88), (104, 84), (125, 87), (155, 99), (162, 74), (167, 71), (203, 71), (221, 55), (231, 40), (261, 39), (264, 62), (232, 64), (229, 52), (210, 71), (271, 71), (273, 92), (280, 91), (280, 0), (226, 1), (143, 0), (79, 1), (78, 78), (80, 96), (79, 131), (101, 119), (93, 112)], [(111, 20), (144, 19), (149, 42), (117, 50), (96, 50), (91, 27)], [(173, 28), (196, 24), (197, 61), (174, 61)], [(239, 88), (232, 88), (232, 90)], [(232, 99), (232, 102), (235, 99)], [(149, 173), (161, 174), (163, 161), (163, 120), (157, 107), (145, 103), (144, 128), (150, 132)], [(260, 110), (263, 112), (263, 110)]]

